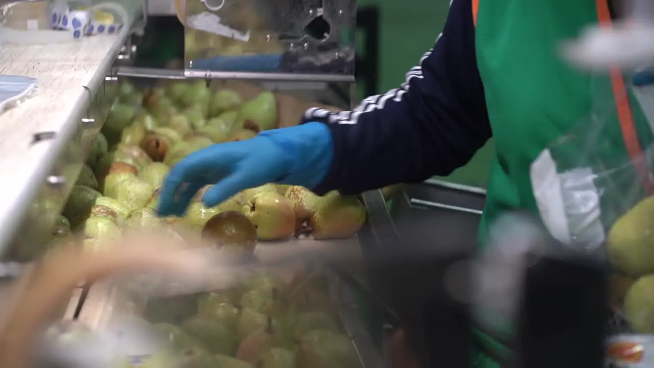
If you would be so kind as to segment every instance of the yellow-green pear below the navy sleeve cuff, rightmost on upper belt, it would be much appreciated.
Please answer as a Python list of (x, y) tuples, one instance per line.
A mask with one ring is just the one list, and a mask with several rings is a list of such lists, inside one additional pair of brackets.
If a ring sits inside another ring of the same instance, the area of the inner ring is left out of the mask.
[(314, 239), (340, 239), (354, 236), (366, 222), (366, 207), (356, 196), (327, 193), (309, 219)]

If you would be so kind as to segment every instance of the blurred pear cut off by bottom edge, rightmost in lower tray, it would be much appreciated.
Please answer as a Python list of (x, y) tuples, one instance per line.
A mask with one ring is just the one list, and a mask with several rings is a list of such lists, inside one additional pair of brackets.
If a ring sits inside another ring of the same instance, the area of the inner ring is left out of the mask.
[(347, 336), (319, 329), (300, 340), (296, 364), (312, 368), (361, 367), (354, 345)]

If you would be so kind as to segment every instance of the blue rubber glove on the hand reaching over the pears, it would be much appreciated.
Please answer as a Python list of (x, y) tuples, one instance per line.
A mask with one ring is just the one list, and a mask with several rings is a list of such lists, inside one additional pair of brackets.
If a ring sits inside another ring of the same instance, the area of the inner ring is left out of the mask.
[(159, 215), (181, 216), (193, 196), (215, 184), (202, 202), (216, 206), (243, 189), (266, 183), (313, 188), (334, 156), (332, 134), (320, 122), (261, 132), (244, 141), (220, 143), (188, 155), (163, 183)]

